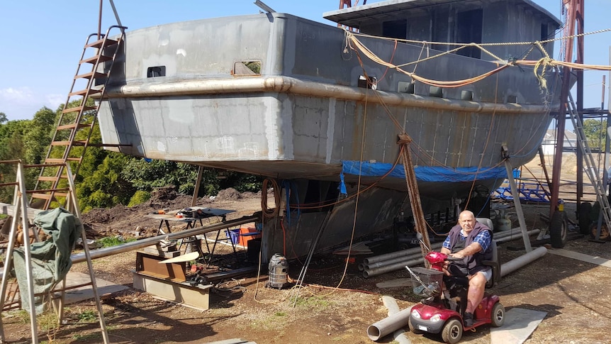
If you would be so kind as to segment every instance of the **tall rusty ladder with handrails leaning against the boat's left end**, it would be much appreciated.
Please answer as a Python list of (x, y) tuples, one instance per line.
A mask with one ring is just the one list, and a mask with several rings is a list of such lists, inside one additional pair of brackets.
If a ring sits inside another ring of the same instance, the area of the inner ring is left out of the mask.
[[(68, 175), (64, 166), (70, 164), (74, 172), (70, 177), (74, 179), (79, 173), (86, 148), (94, 145), (89, 143), (89, 140), (96, 126), (108, 76), (125, 39), (125, 29), (124, 26), (111, 26), (106, 34), (92, 33), (87, 37), (64, 109), (45, 156), (45, 165), (41, 168), (34, 187), (37, 192), (31, 195), (30, 204), (37, 203), (37, 199), (38, 204), (41, 203), (40, 200), (44, 200), (44, 206), (40, 204), (39, 207), (49, 209), (52, 201), (66, 199), (65, 179)], [(108, 38), (111, 30), (120, 31), (118, 38)], [(97, 105), (91, 96), (96, 96)], [(62, 179), (64, 182), (60, 182)]]

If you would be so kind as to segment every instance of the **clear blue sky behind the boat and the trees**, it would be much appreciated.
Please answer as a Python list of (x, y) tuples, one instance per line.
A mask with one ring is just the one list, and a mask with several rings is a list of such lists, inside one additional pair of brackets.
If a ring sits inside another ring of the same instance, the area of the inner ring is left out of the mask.
[[(6, 113), (9, 120), (16, 120), (32, 118), (43, 106), (57, 109), (66, 101), (87, 35), (97, 30), (99, 1), (1, 2), (0, 112)], [(264, 0), (278, 12), (323, 23), (330, 22), (322, 14), (337, 9), (339, 2)], [(373, 2), (378, 1), (369, 0)], [(535, 2), (560, 16), (561, 0)], [(129, 30), (175, 21), (258, 13), (259, 8), (253, 3), (254, 0), (115, 0), (120, 20)], [(589, 0), (585, 6), (586, 32), (611, 27), (605, 18), (611, 13), (610, 0)], [(104, 0), (102, 30), (114, 23), (111, 6)], [(610, 45), (611, 33), (587, 36), (585, 63), (609, 65)], [(600, 107), (603, 74), (585, 72), (585, 107)], [(607, 96), (605, 92), (605, 104)]]

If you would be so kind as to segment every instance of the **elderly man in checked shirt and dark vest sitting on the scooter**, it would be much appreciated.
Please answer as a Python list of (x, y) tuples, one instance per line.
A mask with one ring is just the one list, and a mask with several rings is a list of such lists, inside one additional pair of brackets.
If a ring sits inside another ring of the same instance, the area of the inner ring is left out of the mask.
[(469, 278), (466, 310), (463, 317), (466, 327), (473, 326), (473, 311), (483, 298), (486, 282), (492, 277), (492, 269), (483, 265), (492, 260), (491, 229), (476, 221), (471, 211), (463, 211), (459, 223), (449, 231), (441, 253), (463, 258), (448, 266), (447, 274)]

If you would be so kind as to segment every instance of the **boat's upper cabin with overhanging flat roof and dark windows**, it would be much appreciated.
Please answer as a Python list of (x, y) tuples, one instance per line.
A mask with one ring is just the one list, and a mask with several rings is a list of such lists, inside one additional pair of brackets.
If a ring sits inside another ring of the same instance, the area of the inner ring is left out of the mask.
[[(554, 38), (561, 22), (530, 0), (388, 0), (323, 13), (324, 18), (366, 35), (444, 43), (534, 42)], [(549, 55), (554, 45), (543, 44)], [(452, 44), (434, 44), (448, 51)], [(503, 59), (520, 58), (525, 45), (487, 46)], [(456, 54), (490, 60), (476, 47)], [(537, 49), (529, 60), (542, 57)]]

